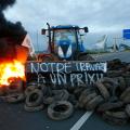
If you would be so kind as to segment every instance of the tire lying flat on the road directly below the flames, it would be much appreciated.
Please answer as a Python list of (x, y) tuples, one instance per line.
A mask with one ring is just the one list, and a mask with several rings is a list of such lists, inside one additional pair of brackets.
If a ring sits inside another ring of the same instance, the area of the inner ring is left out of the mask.
[(5, 98), (5, 101), (8, 103), (20, 103), (24, 100), (25, 100), (25, 95), (23, 93), (15, 93), (15, 94), (8, 95)]

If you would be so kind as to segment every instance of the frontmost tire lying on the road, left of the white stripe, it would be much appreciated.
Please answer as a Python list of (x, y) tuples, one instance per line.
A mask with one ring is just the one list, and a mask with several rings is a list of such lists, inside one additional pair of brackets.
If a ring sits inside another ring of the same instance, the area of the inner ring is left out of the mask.
[(48, 116), (53, 120), (69, 118), (74, 113), (74, 106), (67, 101), (58, 101), (48, 107)]

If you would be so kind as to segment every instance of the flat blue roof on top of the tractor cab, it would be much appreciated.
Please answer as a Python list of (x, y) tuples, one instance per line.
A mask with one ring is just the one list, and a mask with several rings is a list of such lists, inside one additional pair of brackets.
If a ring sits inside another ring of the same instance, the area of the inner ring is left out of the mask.
[(51, 29), (79, 29), (79, 26), (76, 25), (58, 25), (58, 26), (52, 26)]

